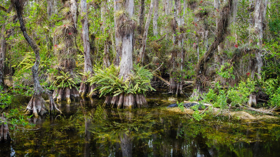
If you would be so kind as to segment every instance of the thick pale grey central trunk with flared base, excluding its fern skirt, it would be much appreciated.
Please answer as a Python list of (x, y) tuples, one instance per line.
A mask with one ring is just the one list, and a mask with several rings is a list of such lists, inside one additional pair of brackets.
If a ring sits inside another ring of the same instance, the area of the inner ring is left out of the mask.
[[(131, 20), (130, 18), (134, 14), (134, 1), (133, 0), (126, 0), (126, 2), (123, 4), (125, 7), (125, 11), (128, 13), (121, 16), (127, 16), (127, 19)], [(119, 78), (123, 77), (123, 81), (126, 79), (129, 79), (129, 75), (132, 73), (133, 70), (133, 65), (132, 65), (132, 52), (133, 52), (133, 47), (132, 47), (132, 39), (133, 39), (133, 32), (134, 29), (136, 28), (135, 23), (131, 22), (130, 27), (132, 28), (131, 30), (125, 30), (122, 31), (121, 23), (124, 21), (118, 20), (118, 17), (115, 17), (116, 21), (118, 21), (116, 24), (118, 27), (116, 30), (116, 34), (121, 35), (122, 37), (122, 54), (121, 54), (121, 61), (120, 61), (120, 73), (119, 73)], [(104, 102), (104, 105), (112, 105), (112, 108), (117, 106), (117, 108), (126, 108), (126, 109), (132, 109), (134, 106), (137, 106), (138, 108), (142, 106), (147, 105), (146, 98), (144, 94), (124, 94), (121, 93), (115, 97), (111, 97), (108, 95), (106, 97), (106, 100)]]

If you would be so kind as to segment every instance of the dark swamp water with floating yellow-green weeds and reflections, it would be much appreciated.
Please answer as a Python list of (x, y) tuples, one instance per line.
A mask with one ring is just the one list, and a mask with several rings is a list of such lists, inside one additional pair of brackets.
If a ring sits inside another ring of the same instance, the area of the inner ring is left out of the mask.
[(0, 156), (280, 156), (277, 120), (196, 122), (158, 99), (134, 110), (103, 102), (61, 103), (64, 114), (29, 119), (40, 129), (10, 131), (13, 141), (0, 144)]

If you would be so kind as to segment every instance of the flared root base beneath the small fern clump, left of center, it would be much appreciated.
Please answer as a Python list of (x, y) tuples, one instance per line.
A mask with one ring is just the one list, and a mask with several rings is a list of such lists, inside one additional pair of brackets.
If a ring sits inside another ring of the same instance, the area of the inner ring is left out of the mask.
[(53, 92), (52, 97), (58, 102), (66, 100), (67, 103), (71, 103), (71, 100), (80, 100), (79, 92), (75, 87), (59, 88)]

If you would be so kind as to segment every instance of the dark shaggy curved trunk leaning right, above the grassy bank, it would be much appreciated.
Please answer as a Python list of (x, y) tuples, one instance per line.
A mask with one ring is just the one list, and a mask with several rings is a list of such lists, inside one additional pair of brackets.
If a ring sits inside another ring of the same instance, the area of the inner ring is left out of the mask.
[(230, 20), (230, 10), (232, 9), (232, 1), (233, 0), (228, 0), (226, 5), (223, 6), (223, 8), (220, 8), (220, 18), (217, 23), (218, 29), (216, 30), (215, 39), (211, 44), (209, 51), (206, 51), (206, 53), (197, 63), (195, 89), (191, 95), (191, 97), (194, 97), (195, 99), (200, 99), (200, 96), (206, 91), (206, 87), (202, 86), (202, 78), (206, 76), (207, 63), (215, 54), (218, 45), (225, 40), (225, 33), (227, 32), (227, 27)]

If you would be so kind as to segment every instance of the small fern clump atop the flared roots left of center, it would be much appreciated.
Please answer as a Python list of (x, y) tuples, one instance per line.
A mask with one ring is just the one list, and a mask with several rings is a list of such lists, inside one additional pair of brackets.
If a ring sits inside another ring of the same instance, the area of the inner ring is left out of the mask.
[(72, 89), (72, 87), (77, 88), (76, 84), (79, 83), (78, 78), (74, 78), (69, 72), (64, 73), (63, 71), (60, 71), (62, 75), (55, 76), (56, 81), (53, 82), (53, 85), (55, 85), (57, 88), (65, 88), (69, 87)]

